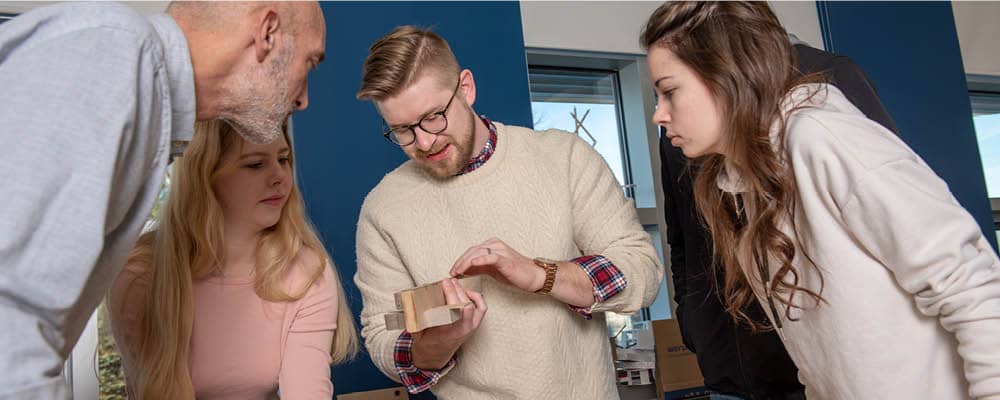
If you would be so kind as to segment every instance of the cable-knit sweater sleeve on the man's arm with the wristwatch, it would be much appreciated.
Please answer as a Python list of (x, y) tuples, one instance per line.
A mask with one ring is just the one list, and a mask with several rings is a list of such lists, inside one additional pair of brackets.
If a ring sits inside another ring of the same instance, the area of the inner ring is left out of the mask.
[(601, 255), (621, 271), (625, 288), (594, 304), (591, 312), (631, 314), (649, 306), (663, 279), (663, 266), (649, 235), (639, 225), (607, 163), (583, 140), (570, 151), (574, 240), (584, 255)]

